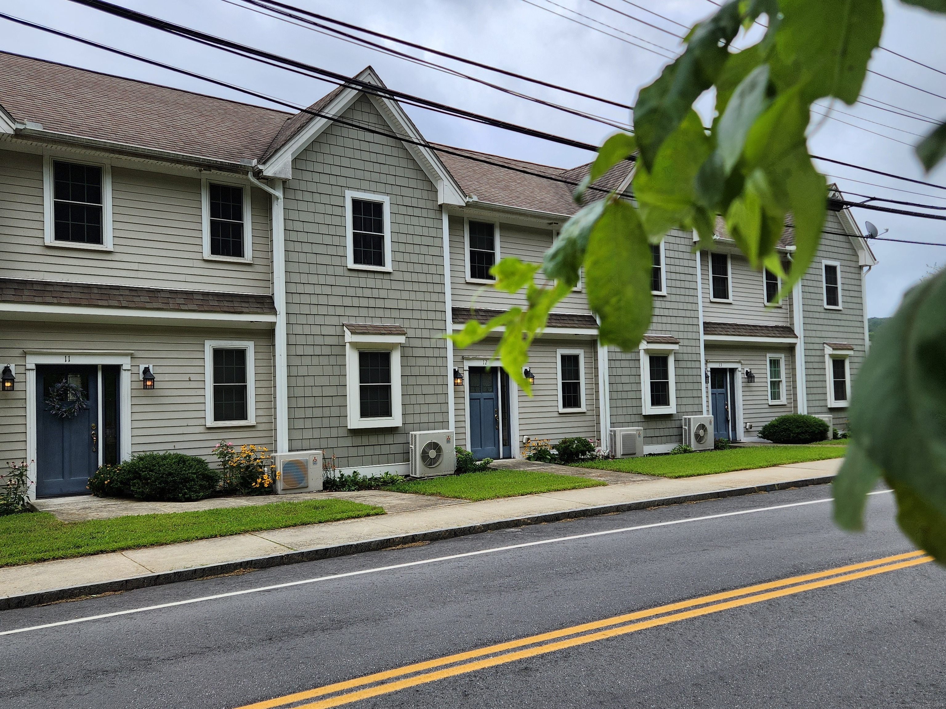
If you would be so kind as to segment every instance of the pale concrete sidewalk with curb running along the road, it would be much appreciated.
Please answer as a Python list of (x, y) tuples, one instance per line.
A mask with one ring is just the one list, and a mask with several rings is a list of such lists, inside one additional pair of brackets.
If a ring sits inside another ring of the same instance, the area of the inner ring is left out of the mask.
[[(633, 476), (605, 487), (481, 502), (424, 497), (417, 501), (422, 506), (410, 509), (405, 500), (400, 507), (404, 511), (383, 516), (10, 566), (0, 568), (0, 610), (489, 529), (816, 484), (827, 482), (841, 462), (842, 458), (833, 458), (678, 479)], [(381, 499), (391, 494), (365, 491), (339, 496), (396, 509), (391, 500)], [(431, 504), (434, 501), (440, 504)]]

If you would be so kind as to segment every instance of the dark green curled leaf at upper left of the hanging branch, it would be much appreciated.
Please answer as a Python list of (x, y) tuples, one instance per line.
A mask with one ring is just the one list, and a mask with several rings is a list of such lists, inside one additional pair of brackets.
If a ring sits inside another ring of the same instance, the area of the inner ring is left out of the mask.
[(709, 20), (693, 27), (686, 51), (664, 68), (654, 83), (640, 90), (634, 106), (634, 131), (648, 170), (654, 169), (657, 151), (687, 117), (693, 101), (719, 76), (741, 20), (739, 0), (730, 0)]

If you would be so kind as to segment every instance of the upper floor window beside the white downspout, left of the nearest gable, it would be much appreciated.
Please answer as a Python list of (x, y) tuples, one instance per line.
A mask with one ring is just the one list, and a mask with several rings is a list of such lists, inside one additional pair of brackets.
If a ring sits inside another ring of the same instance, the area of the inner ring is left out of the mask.
[(203, 257), (253, 260), (250, 189), (238, 182), (201, 181)]

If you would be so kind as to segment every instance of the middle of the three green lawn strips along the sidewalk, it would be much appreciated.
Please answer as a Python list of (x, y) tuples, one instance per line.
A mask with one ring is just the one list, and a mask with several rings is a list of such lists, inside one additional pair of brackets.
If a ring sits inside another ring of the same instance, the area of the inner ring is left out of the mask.
[(395, 493), (434, 494), (464, 500), (492, 500), (520, 494), (552, 493), (606, 485), (587, 477), (561, 476), (537, 470), (488, 470), (462, 476), (431, 477), (427, 480), (405, 480), (385, 490)]

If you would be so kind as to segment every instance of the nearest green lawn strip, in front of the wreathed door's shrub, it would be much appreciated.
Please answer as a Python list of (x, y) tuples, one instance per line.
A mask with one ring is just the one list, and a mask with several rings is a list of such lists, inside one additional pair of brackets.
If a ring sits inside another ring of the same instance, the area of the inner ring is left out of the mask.
[(334, 522), (370, 514), (384, 514), (384, 510), (336, 499), (137, 514), (86, 522), (60, 522), (49, 512), (9, 514), (0, 517), (0, 539), (3, 540), (0, 566)]

